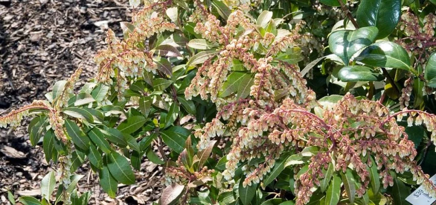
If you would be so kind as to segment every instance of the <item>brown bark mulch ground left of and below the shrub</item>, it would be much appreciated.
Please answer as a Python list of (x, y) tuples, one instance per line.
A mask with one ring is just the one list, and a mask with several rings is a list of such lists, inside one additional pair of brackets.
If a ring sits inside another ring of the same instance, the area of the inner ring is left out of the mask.
[[(80, 65), (82, 85), (92, 78), (93, 56), (105, 47), (105, 32), (122, 33), (130, 20), (128, 0), (0, 0), (0, 115), (34, 99), (44, 99), (55, 81), (66, 79)], [(28, 119), (16, 130), (0, 129), (0, 204), (39, 196), (39, 183), (55, 166), (47, 164), (41, 145), (31, 147)], [(92, 191), (90, 204), (150, 204), (162, 190), (162, 168), (144, 160), (136, 183), (121, 186), (111, 199), (98, 186), (98, 175), (85, 164), (77, 174), (80, 193)]]

